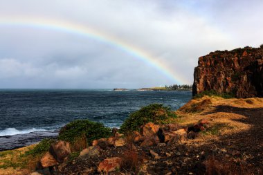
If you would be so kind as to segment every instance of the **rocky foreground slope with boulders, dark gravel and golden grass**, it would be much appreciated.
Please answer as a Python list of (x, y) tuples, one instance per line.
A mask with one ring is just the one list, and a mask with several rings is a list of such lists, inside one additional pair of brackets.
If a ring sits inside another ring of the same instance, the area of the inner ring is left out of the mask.
[(262, 98), (203, 97), (176, 114), (176, 124), (115, 132), (76, 158), (58, 154), (69, 146), (56, 143), (35, 174), (263, 174)]

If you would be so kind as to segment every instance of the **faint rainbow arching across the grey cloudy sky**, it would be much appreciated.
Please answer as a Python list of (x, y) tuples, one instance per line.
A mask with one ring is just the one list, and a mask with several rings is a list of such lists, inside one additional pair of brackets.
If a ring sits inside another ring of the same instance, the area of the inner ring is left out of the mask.
[(141, 50), (136, 46), (132, 46), (131, 44), (127, 44), (123, 42), (121, 39), (115, 38), (111, 35), (107, 35), (105, 33), (100, 32), (99, 30), (69, 23), (66, 21), (53, 20), (53, 19), (40, 19), (40, 18), (26, 18), (26, 17), (18, 17), (18, 18), (1, 18), (0, 17), (0, 25), (4, 26), (28, 26), (31, 28), (42, 28), (45, 30), (58, 30), (63, 33), (70, 33), (74, 35), (82, 35), (84, 37), (89, 37), (91, 39), (96, 39), (99, 42), (109, 44), (110, 46), (114, 46), (123, 52), (128, 53), (129, 55), (140, 59), (140, 61), (148, 64), (156, 68), (156, 70), (160, 71), (165, 75), (165, 77), (172, 80), (174, 83), (183, 84), (188, 82), (187, 80), (183, 80), (183, 78), (179, 75), (179, 73), (174, 73), (171, 68), (165, 63), (160, 62), (157, 57), (154, 57), (150, 53), (147, 53), (145, 50)]

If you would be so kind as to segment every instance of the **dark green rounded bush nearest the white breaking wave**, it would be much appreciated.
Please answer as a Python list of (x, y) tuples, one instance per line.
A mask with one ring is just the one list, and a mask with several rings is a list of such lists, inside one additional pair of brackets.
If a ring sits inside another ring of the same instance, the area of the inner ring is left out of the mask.
[(86, 137), (87, 144), (99, 138), (107, 138), (111, 135), (111, 129), (105, 127), (102, 123), (91, 122), (89, 120), (75, 120), (60, 129), (59, 140), (71, 142)]

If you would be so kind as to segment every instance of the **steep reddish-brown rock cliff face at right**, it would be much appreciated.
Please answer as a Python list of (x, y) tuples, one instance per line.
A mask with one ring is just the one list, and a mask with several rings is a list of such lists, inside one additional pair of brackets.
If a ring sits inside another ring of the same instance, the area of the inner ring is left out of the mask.
[(263, 97), (263, 47), (215, 51), (199, 57), (192, 95), (210, 90), (233, 93), (236, 98)]

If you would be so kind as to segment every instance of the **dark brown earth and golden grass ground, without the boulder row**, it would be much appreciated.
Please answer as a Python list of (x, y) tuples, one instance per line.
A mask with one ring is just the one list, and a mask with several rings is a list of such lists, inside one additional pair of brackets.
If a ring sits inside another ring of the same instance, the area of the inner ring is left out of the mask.
[[(150, 147), (140, 147), (138, 142), (136, 149), (129, 144), (107, 147), (93, 158), (82, 156), (55, 167), (53, 173), (100, 174), (98, 165), (105, 158), (120, 157), (123, 165), (109, 174), (263, 174), (262, 98), (205, 96), (191, 100), (176, 114), (182, 127), (199, 120), (208, 125), (194, 139)], [(0, 174), (23, 174), (21, 169), (8, 171), (0, 169)]]

